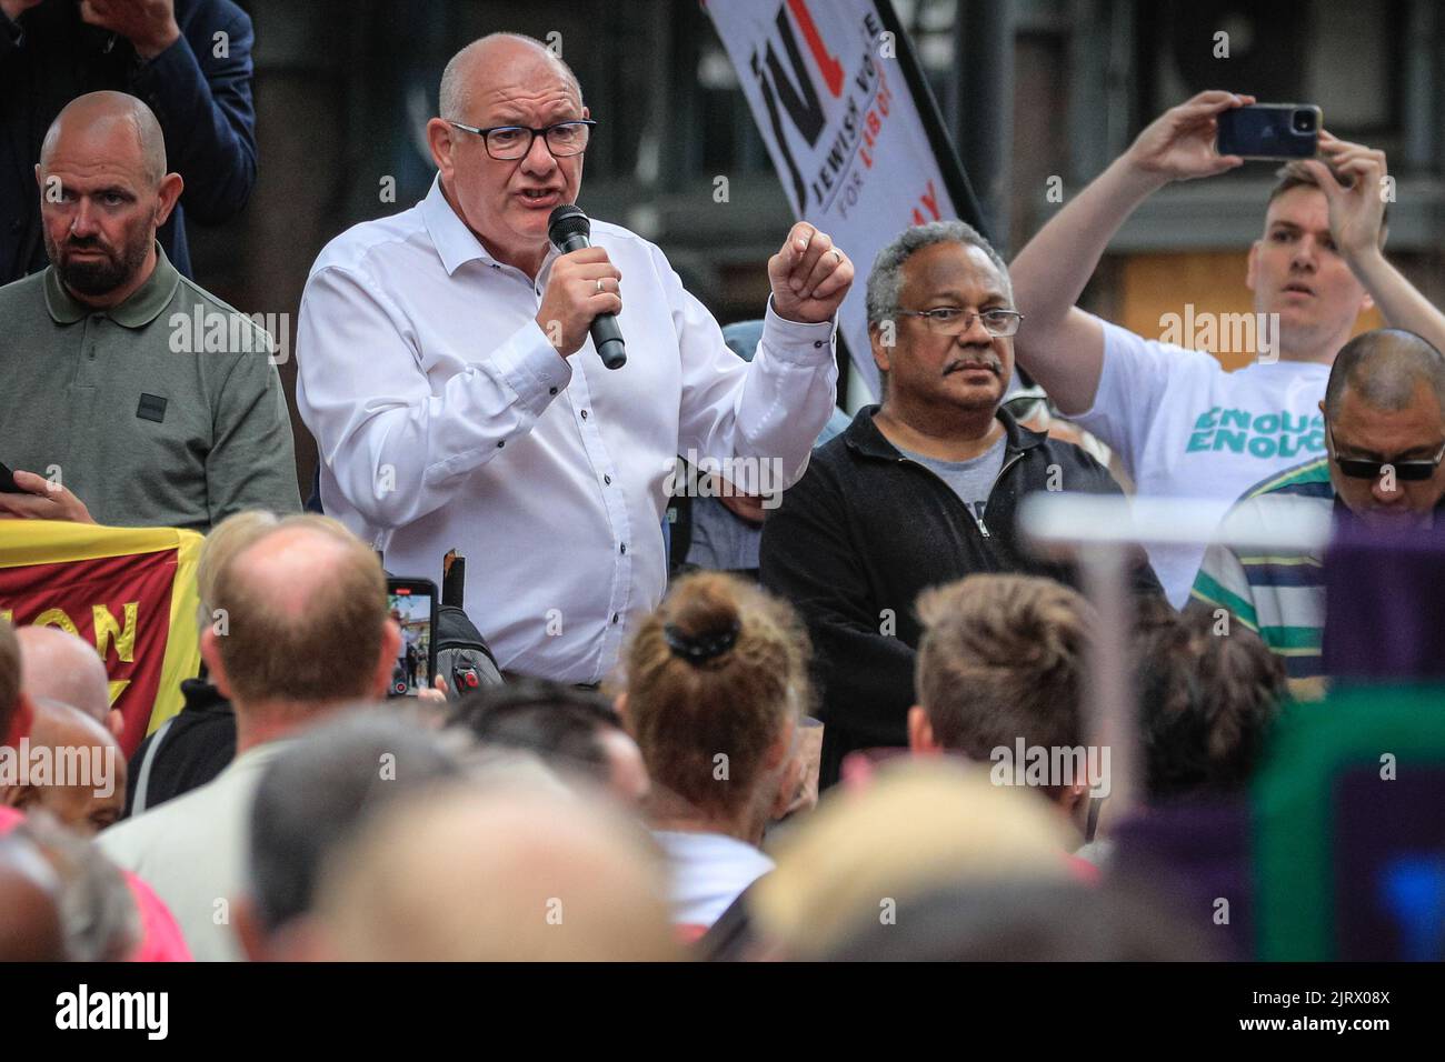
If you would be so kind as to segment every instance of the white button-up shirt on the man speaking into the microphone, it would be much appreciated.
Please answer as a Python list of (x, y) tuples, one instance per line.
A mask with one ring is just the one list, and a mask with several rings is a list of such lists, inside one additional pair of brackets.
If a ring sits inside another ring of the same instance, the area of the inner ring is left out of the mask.
[(396, 575), (439, 587), (442, 556), (461, 552), (497, 663), (562, 682), (600, 681), (662, 600), (676, 455), (786, 487), (837, 386), (834, 324), (769, 306), (744, 363), (657, 247), (601, 221), (591, 238), (623, 275), (620, 370), (591, 340), (559, 357), (538, 327), (556, 250), (535, 279), (494, 260), (439, 182), (327, 244), (296, 337), (325, 511)]

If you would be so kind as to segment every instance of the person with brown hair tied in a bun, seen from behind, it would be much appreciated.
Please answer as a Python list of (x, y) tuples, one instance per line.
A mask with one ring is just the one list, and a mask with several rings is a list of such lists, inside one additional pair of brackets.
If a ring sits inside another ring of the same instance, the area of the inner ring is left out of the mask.
[(652, 776), (673, 920), (701, 933), (773, 868), (763, 829), (802, 773), (808, 636), (783, 601), (724, 572), (679, 579), (629, 646), (620, 707)]

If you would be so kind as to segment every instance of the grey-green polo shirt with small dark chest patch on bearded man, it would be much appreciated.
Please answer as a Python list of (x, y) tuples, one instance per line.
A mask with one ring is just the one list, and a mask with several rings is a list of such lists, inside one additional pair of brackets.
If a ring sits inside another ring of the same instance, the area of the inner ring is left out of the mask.
[(176, 272), (94, 311), (53, 266), (0, 288), (0, 462), (59, 474), (97, 523), (208, 532), (301, 509), (270, 341)]

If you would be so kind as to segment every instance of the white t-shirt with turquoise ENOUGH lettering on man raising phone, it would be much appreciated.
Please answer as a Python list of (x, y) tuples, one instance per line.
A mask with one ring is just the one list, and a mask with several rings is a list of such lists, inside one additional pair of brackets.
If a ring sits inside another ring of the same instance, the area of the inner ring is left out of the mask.
[[(1140, 496), (1214, 501), (1215, 522), (1274, 472), (1319, 457), (1329, 366), (1253, 361), (1233, 373), (1212, 354), (1104, 327), (1094, 406), (1071, 418), (1120, 457)], [(1149, 561), (1182, 608), (1204, 546), (1152, 546)]]

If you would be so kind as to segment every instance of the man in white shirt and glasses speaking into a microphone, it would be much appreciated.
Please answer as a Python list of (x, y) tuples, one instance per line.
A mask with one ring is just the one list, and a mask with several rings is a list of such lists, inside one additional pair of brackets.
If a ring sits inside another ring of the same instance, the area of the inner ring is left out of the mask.
[[(439, 582), (444, 553), (464, 553), (467, 611), (504, 670), (598, 682), (662, 598), (675, 457), (727, 462), (741, 493), (802, 475), (854, 267), (793, 225), (740, 361), (653, 244), (597, 220), (590, 247), (549, 240), (595, 121), (540, 42), (464, 48), (439, 110), (428, 197), (342, 233), (306, 282), (296, 402), (321, 501), (399, 575)], [(616, 370), (590, 338), (607, 314)]]

